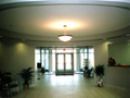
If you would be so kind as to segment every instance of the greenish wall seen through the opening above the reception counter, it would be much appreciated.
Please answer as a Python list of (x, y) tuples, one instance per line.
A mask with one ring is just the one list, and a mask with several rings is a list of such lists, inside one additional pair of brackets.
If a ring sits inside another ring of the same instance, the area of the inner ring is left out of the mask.
[(130, 41), (113, 44), (108, 46), (108, 56), (116, 60), (117, 64), (130, 65)]

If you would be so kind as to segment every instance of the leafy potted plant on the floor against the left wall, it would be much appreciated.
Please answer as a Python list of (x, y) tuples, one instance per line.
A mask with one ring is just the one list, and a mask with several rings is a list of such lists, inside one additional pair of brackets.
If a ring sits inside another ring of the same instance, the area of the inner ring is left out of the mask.
[(20, 75), (24, 79), (24, 83), (23, 83), (23, 88), (24, 89), (29, 88), (29, 84), (31, 82), (32, 73), (34, 73), (34, 71), (31, 71), (31, 69), (32, 68), (23, 69), (22, 72), (20, 73)]

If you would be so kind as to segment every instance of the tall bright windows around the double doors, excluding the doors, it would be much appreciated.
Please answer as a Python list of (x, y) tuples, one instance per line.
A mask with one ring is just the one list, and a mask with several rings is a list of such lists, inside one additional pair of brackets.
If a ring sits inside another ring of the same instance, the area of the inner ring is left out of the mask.
[(89, 63), (89, 68), (94, 66), (94, 49), (93, 47), (84, 48), (42, 48), (35, 49), (35, 64), (41, 63), (46, 70), (55, 72), (55, 54), (56, 53), (73, 53), (74, 54), (74, 71), (80, 71), (84, 66), (84, 60)]

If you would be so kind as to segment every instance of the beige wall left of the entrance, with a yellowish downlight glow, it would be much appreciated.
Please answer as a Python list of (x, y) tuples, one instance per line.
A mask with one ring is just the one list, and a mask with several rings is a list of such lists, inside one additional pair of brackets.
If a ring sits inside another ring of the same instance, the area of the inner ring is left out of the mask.
[(0, 71), (12, 72), (13, 76), (22, 69), (35, 63), (35, 48), (25, 42), (5, 40), (0, 42)]

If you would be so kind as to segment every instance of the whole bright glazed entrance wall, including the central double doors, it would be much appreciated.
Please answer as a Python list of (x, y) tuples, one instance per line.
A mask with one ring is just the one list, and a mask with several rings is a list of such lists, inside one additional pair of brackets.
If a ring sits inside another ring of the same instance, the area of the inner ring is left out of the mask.
[(88, 60), (90, 69), (94, 68), (93, 47), (36, 47), (35, 49), (35, 70), (37, 70), (37, 63), (41, 63), (46, 71), (56, 75), (81, 72), (84, 60)]

